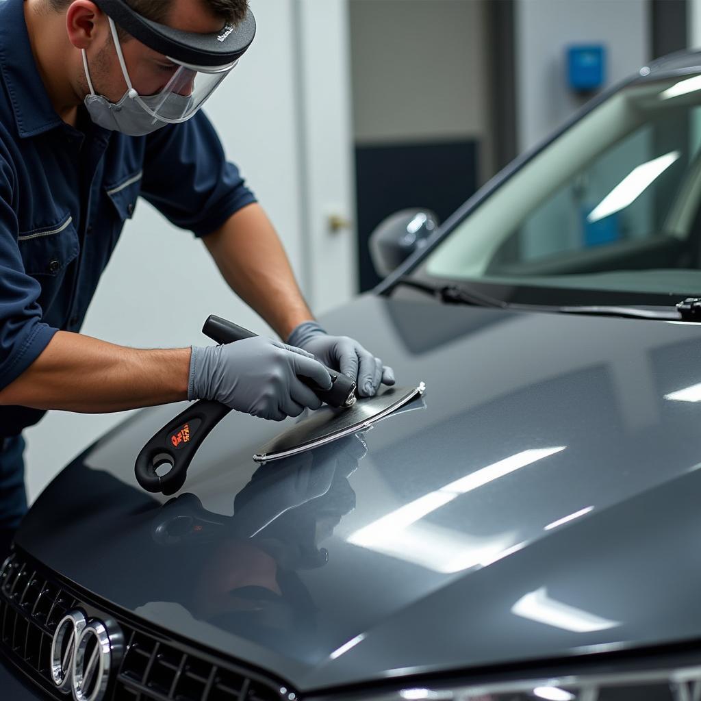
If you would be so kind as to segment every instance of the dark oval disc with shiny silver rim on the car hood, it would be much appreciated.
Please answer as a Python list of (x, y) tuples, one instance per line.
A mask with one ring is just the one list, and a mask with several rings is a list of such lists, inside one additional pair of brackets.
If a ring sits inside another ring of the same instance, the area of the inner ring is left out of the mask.
[(367, 430), (381, 418), (389, 416), (393, 411), (422, 395), (425, 389), (426, 385), (423, 382), (418, 387), (411, 388), (386, 387), (374, 397), (358, 398), (348, 409), (322, 407), (266, 443), (253, 459), (263, 463), (289, 458), (343, 436)]

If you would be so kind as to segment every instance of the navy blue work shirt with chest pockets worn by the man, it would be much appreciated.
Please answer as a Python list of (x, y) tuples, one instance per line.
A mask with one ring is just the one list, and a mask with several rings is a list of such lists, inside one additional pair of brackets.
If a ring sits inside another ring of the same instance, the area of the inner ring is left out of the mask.
[[(82, 105), (79, 128), (64, 123), (34, 62), (23, 5), (0, 0), (0, 388), (57, 329), (80, 329), (139, 196), (195, 236), (255, 201), (201, 111), (144, 137), (98, 127)], [(0, 407), (0, 436), (42, 415)]]

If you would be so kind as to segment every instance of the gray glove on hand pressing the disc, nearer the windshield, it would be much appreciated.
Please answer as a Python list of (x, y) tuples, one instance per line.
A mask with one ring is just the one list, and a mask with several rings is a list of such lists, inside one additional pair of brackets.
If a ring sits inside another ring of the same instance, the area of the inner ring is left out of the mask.
[(287, 343), (313, 353), (324, 365), (350, 377), (358, 384), (361, 397), (372, 397), (380, 383), (395, 383), (393, 369), (382, 365), (382, 361), (366, 351), (358, 341), (348, 336), (329, 336), (315, 321), (301, 323), (290, 334)]

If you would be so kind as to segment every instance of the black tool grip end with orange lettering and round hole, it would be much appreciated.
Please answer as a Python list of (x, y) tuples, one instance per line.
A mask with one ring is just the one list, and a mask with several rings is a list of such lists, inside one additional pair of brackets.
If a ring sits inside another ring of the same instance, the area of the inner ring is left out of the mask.
[[(137, 456), (134, 467), (137, 482), (146, 491), (175, 494), (185, 484), (187, 468), (200, 444), (229, 411), (226, 404), (199, 400), (178, 414)], [(170, 465), (163, 476), (156, 472), (161, 465)]]

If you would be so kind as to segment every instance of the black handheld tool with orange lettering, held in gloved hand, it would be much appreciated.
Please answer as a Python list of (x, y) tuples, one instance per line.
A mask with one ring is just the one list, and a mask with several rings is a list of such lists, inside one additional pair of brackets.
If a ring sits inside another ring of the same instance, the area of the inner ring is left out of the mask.
[[(207, 318), (202, 330), (217, 343), (234, 343), (257, 335), (214, 315)], [(322, 402), (336, 408), (353, 406), (356, 399), (355, 382), (335, 370), (327, 370), (333, 383), (329, 390), (315, 386), (306, 378), (300, 379)], [(137, 482), (154, 494), (175, 494), (185, 484), (187, 470), (203, 440), (229, 411), (231, 409), (221, 402), (198, 400), (165, 424), (136, 458), (134, 471)], [(159, 470), (165, 470), (165, 474), (159, 475)]]

